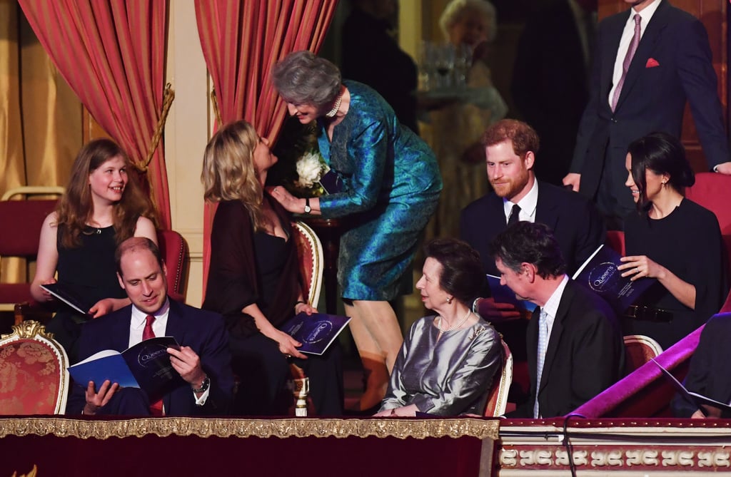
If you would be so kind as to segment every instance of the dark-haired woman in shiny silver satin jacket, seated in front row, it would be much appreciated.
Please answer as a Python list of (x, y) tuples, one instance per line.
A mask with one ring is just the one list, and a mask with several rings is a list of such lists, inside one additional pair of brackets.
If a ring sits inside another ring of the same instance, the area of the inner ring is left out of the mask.
[(437, 315), (412, 326), (376, 416), (481, 415), (502, 348), (498, 332), (469, 306), (485, 280), (480, 255), (461, 240), (436, 239), (425, 256), (416, 287)]

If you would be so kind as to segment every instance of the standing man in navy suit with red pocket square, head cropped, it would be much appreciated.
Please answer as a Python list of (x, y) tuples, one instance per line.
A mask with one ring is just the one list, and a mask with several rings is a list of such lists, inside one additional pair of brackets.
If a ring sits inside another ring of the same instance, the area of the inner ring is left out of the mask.
[(653, 131), (681, 136), (688, 99), (709, 168), (731, 174), (716, 72), (700, 20), (667, 0), (599, 23), (591, 92), (564, 184), (596, 201), (611, 228), (635, 210), (624, 187), (627, 146)]

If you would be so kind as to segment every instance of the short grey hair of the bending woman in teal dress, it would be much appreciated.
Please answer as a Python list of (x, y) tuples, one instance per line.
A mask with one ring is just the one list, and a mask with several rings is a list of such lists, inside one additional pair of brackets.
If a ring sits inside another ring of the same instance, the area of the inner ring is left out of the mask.
[(272, 83), (288, 103), (311, 104), (317, 110), (329, 108), (340, 93), (337, 66), (309, 51), (289, 53), (274, 65)]

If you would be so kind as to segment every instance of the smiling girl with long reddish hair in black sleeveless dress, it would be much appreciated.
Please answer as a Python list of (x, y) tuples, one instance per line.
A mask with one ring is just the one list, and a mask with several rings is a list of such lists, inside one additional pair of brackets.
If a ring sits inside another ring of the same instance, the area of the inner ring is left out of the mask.
[(129, 157), (115, 142), (96, 139), (79, 151), (71, 177), (56, 211), (41, 228), (36, 274), (31, 294), (38, 302), (53, 296), (41, 285), (63, 283), (86, 302), (94, 303), (81, 316), (59, 303), (48, 331), (76, 360), (80, 326), (89, 316), (105, 315), (129, 305), (116, 275), (114, 251), (129, 237), (157, 243), (154, 207), (129, 174)]

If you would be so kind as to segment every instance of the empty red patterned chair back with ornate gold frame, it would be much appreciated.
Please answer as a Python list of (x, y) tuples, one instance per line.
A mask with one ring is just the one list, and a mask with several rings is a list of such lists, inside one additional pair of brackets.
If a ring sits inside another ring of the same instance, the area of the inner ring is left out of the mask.
[(0, 414), (61, 414), (69, 389), (69, 358), (37, 321), (0, 336)]

